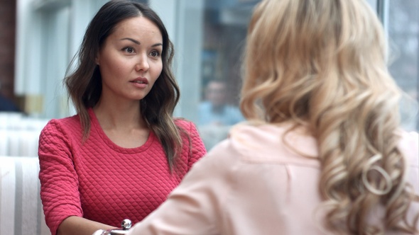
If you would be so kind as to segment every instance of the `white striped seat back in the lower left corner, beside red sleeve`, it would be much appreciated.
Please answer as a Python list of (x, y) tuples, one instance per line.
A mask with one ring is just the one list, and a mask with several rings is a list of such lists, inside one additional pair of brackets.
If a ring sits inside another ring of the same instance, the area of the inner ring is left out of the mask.
[(39, 161), (0, 156), (0, 235), (47, 235), (40, 201)]

